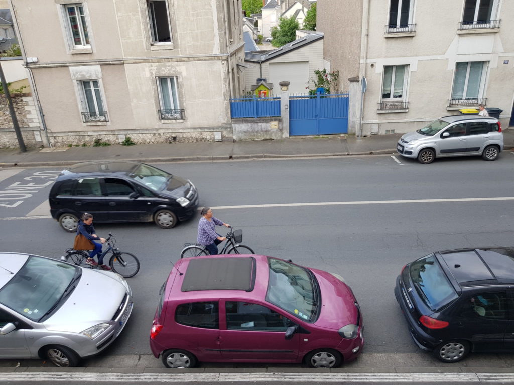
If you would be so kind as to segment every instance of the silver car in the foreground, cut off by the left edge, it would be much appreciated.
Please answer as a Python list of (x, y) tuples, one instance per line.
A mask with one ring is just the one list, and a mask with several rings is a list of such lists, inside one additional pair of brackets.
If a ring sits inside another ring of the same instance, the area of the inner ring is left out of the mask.
[(118, 337), (132, 308), (132, 291), (118, 274), (0, 253), (0, 358), (74, 367)]

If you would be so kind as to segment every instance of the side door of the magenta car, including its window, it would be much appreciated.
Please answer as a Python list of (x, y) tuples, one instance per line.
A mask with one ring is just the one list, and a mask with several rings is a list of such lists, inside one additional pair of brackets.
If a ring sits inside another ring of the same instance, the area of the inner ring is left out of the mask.
[[(298, 358), (300, 335), (285, 339), (293, 323), (267, 306), (244, 301), (220, 301), (219, 342), (229, 360), (292, 361)], [(225, 314), (223, 314), (223, 310)]]

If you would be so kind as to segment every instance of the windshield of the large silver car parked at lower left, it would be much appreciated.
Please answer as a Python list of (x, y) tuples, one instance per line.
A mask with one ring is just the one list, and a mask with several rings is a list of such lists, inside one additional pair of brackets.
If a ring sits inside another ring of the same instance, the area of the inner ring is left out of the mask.
[(77, 266), (30, 256), (0, 289), (0, 303), (32, 321), (40, 321), (60, 305), (81, 275)]

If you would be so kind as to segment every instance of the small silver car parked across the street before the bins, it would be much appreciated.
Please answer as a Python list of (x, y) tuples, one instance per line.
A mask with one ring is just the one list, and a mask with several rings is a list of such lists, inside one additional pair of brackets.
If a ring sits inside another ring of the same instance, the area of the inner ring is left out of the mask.
[(498, 119), (480, 115), (451, 115), (403, 135), (396, 145), (403, 157), (429, 164), (435, 158), (480, 155), (496, 160), (503, 151), (503, 133)]

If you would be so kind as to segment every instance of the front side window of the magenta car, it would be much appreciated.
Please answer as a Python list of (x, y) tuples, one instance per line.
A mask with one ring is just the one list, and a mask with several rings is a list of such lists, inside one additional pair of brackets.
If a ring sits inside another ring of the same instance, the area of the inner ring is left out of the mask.
[(228, 330), (261, 330), (285, 332), (293, 325), (287, 317), (256, 303), (227, 301)]

